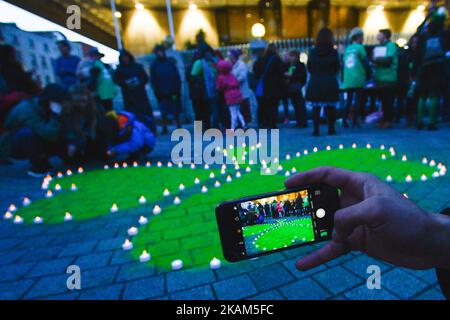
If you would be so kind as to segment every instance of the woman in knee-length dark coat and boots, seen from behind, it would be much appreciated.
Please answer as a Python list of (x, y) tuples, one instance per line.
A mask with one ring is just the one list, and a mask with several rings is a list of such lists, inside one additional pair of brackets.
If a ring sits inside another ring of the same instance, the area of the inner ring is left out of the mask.
[(313, 136), (320, 135), (320, 110), (325, 108), (328, 120), (328, 134), (336, 134), (334, 128), (336, 105), (339, 101), (339, 54), (334, 49), (333, 32), (328, 28), (319, 31), (316, 46), (308, 58), (308, 71), (311, 75), (306, 100), (313, 105)]

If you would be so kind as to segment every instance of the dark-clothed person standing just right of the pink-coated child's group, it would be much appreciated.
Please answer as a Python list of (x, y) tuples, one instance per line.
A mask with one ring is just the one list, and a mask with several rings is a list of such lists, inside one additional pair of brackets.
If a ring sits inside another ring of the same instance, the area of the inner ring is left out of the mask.
[(253, 73), (257, 81), (258, 123), (260, 128), (275, 129), (284, 67), (273, 43), (267, 46), (264, 55), (255, 62)]

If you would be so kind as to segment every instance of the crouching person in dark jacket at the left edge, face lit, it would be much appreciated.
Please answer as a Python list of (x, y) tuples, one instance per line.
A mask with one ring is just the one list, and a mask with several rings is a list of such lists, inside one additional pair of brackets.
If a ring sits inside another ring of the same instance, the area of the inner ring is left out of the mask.
[(39, 96), (15, 106), (6, 117), (0, 136), (1, 162), (7, 163), (9, 157), (30, 159), (30, 176), (47, 175), (51, 168), (49, 157), (62, 150), (61, 113), (70, 100), (63, 87), (50, 84)]

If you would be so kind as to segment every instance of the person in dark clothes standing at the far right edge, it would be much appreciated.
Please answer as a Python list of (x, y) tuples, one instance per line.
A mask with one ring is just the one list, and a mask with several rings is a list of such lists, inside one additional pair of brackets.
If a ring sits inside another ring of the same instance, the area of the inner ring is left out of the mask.
[(436, 10), (431, 21), (419, 36), (418, 54), (415, 61), (419, 103), (417, 107), (417, 129), (424, 128), (423, 116), (428, 102), (428, 130), (437, 130), (437, 107), (440, 97), (447, 86), (446, 52), (449, 50), (449, 39), (445, 36), (445, 8)]

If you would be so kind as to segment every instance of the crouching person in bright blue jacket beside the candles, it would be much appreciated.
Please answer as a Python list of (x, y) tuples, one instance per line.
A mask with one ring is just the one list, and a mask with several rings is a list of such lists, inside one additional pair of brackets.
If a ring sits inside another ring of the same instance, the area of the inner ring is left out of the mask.
[(156, 138), (152, 131), (130, 112), (108, 112), (107, 117), (117, 121), (115, 143), (107, 151), (116, 160), (138, 160), (153, 151)]

